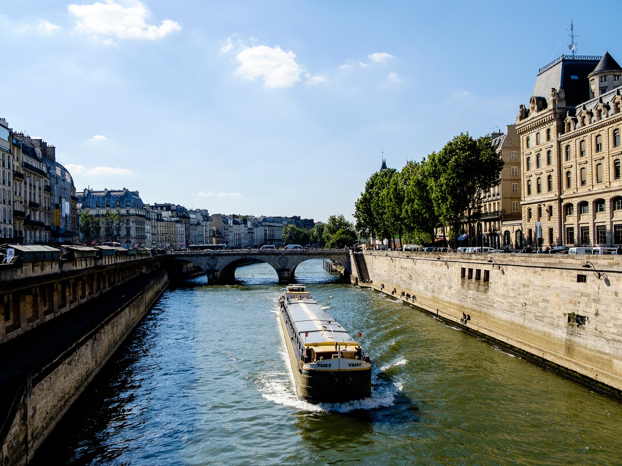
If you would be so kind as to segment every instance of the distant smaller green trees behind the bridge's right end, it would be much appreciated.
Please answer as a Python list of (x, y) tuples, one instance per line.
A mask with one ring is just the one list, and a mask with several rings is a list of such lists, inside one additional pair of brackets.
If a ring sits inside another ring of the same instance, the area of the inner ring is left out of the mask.
[(343, 248), (355, 244), (357, 237), (352, 222), (348, 222), (343, 215), (332, 215), (325, 224), (318, 223), (309, 232), (295, 225), (287, 225), (283, 228), (281, 239), (285, 244)]

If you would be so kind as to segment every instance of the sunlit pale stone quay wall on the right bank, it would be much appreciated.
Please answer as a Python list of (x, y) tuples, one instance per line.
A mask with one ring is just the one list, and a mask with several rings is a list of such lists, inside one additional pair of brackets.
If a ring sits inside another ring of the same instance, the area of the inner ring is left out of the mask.
[(397, 298), (405, 291), (457, 325), (470, 314), (470, 331), (622, 394), (622, 256), (371, 251), (364, 259), (372, 283), (363, 286), (396, 288)]

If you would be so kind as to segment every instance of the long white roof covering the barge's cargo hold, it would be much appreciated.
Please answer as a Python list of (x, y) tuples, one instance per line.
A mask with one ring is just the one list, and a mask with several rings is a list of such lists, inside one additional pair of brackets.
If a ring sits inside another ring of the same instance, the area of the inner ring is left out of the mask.
[(356, 344), (356, 340), (311, 299), (308, 291), (292, 293), (288, 290), (285, 293), (285, 304), (302, 344)]

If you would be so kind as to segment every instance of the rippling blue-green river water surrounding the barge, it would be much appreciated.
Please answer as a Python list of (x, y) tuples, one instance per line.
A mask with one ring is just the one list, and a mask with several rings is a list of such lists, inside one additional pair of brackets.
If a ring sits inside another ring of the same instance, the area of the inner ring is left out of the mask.
[(297, 279), (374, 360), (373, 394), (297, 400), (266, 264), (167, 290), (37, 452), (67, 465), (620, 465), (621, 400), (397, 299)]

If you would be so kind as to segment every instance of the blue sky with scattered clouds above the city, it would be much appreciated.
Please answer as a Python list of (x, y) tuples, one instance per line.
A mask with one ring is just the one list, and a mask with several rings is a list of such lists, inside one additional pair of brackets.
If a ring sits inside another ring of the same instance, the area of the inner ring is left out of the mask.
[(0, 116), (76, 188), (350, 216), (389, 167), (514, 122), (537, 69), (622, 63), (619, 2), (5, 2)]

